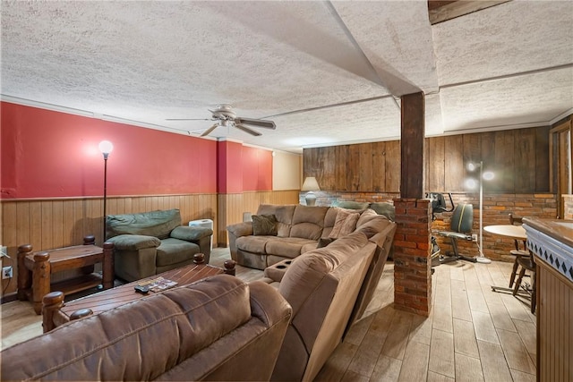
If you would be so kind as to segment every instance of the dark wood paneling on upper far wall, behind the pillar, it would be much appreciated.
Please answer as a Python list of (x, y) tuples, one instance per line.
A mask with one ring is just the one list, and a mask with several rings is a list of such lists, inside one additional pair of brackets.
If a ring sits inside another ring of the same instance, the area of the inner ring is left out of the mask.
[[(469, 162), (483, 161), (495, 173), (487, 191), (549, 191), (550, 127), (427, 138), (427, 191), (466, 190)], [(315, 176), (325, 191), (398, 192), (399, 140), (304, 149), (304, 176)]]

